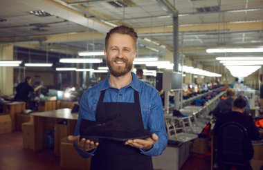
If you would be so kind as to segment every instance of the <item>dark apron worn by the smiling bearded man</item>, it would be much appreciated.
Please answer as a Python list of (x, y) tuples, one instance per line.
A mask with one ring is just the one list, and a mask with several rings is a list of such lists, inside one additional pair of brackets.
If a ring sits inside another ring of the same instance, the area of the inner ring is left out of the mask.
[[(96, 120), (105, 120), (120, 115), (130, 129), (143, 129), (140, 111), (139, 93), (134, 91), (134, 103), (103, 102), (105, 90), (101, 92), (96, 108)], [(140, 150), (125, 142), (100, 140), (94, 156), (91, 158), (92, 170), (152, 170), (152, 157), (140, 153)]]

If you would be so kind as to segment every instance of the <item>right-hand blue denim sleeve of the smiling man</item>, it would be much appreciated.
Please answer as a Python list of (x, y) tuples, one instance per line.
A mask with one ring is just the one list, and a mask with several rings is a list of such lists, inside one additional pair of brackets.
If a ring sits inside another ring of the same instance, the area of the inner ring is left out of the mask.
[(167, 133), (165, 131), (165, 122), (163, 117), (163, 104), (161, 97), (158, 93), (155, 93), (152, 99), (152, 105), (149, 114), (148, 121), (149, 131), (155, 133), (158, 136), (158, 140), (154, 143), (154, 147), (149, 151), (140, 149), (141, 153), (150, 156), (161, 155), (167, 146)]

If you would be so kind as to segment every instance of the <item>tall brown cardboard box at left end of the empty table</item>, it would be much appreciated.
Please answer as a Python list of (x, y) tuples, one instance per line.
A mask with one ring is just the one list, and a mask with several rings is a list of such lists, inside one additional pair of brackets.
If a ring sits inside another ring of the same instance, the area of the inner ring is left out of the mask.
[(25, 149), (34, 149), (34, 124), (33, 122), (26, 122), (22, 124), (23, 131), (23, 147)]

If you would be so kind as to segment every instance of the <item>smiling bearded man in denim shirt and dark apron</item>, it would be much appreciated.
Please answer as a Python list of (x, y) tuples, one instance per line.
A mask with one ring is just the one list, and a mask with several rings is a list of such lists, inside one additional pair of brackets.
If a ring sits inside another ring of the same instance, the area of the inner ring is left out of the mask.
[[(75, 149), (83, 158), (92, 156), (91, 169), (152, 170), (152, 156), (161, 155), (167, 145), (160, 95), (131, 72), (137, 55), (137, 38), (134, 29), (127, 26), (118, 26), (107, 32), (105, 59), (109, 73), (106, 79), (82, 95), (75, 134), (68, 140), (74, 142)], [(125, 142), (80, 140), (82, 119), (102, 121), (116, 113), (120, 114), (120, 121), (127, 126), (125, 128), (147, 129), (152, 136)]]

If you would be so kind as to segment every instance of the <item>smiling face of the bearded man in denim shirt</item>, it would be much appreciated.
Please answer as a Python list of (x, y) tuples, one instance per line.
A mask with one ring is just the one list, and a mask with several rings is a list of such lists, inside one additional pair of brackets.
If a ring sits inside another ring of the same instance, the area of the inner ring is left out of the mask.
[(137, 50), (134, 39), (129, 35), (114, 33), (108, 41), (105, 49), (105, 59), (109, 67), (109, 73), (120, 77), (129, 73)]

